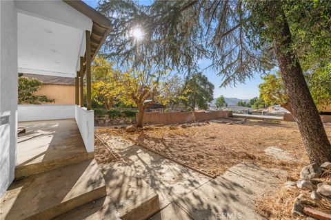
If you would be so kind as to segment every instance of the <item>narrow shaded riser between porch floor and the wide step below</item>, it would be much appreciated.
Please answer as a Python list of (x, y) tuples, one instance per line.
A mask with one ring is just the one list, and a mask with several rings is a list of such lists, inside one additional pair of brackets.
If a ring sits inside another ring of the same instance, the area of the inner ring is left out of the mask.
[(38, 173), (43, 173), (48, 170), (60, 168), (62, 166), (68, 166), (71, 164), (78, 164), (87, 159), (93, 159), (94, 153), (77, 153), (75, 155), (68, 155), (58, 157), (46, 161), (30, 163), (30, 164), (19, 164), (15, 167), (15, 179), (21, 179), (22, 177), (29, 177)]

